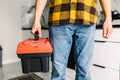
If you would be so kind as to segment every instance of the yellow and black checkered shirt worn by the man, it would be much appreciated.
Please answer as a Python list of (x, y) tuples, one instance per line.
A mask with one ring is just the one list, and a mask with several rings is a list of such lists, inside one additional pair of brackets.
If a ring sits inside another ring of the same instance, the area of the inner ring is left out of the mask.
[(96, 24), (97, 0), (50, 0), (49, 25)]

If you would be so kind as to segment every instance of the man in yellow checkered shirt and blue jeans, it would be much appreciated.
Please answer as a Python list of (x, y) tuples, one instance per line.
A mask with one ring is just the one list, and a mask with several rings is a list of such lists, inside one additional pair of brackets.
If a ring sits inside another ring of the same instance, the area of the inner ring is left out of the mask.
[[(40, 18), (47, 0), (36, 0), (32, 34), (42, 35)], [(111, 0), (100, 0), (104, 12), (103, 37), (112, 34)], [(53, 46), (51, 80), (65, 80), (66, 66), (74, 35), (75, 80), (91, 80), (97, 0), (50, 0), (49, 32)]]

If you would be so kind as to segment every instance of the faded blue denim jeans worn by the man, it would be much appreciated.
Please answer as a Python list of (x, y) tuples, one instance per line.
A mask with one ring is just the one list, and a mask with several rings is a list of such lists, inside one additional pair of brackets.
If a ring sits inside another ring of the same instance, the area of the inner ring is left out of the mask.
[(65, 80), (68, 57), (74, 35), (75, 80), (91, 80), (90, 61), (93, 56), (95, 25), (50, 26), (53, 46), (51, 80)]

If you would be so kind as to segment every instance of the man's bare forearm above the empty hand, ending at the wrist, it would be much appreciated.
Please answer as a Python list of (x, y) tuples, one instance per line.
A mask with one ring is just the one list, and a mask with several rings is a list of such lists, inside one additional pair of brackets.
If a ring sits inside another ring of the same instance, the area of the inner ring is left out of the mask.
[(112, 20), (111, 14), (111, 0), (100, 0), (102, 10), (104, 12), (105, 20)]

